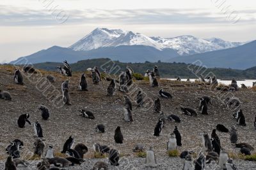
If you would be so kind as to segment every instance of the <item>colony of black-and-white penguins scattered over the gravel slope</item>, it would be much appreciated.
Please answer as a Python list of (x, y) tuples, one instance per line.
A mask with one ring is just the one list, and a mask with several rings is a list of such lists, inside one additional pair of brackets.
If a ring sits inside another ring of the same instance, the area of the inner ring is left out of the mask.
[[(63, 62), (63, 66), (58, 67), (61, 74), (64, 76), (72, 76), (72, 69), (68, 62), (65, 60)], [(24, 73), (37, 73), (33, 67), (24, 67), (23, 68)], [(101, 79), (101, 74), (97, 66), (93, 67), (93, 69), (90, 69), (92, 72), (92, 82), (95, 85), (99, 85)], [(119, 90), (121, 92), (124, 92), (124, 121), (125, 122), (133, 122), (132, 117), (132, 101), (126, 94), (129, 92), (129, 87), (132, 85), (132, 73), (134, 71), (131, 69), (131, 67), (127, 66), (125, 71), (122, 71), (119, 76), (119, 80), (116, 81), (115, 79), (109, 78), (109, 81), (111, 83), (109, 84), (108, 89), (106, 90), (106, 96), (114, 96), (115, 95), (115, 89), (116, 89), (116, 82), (119, 83)], [(157, 66), (154, 67), (153, 71), (147, 71), (145, 73), (145, 76), (149, 77), (150, 86), (151, 87), (158, 87), (159, 83), (157, 78), (160, 77), (159, 69)], [(211, 76), (208, 78), (211, 82), (211, 85), (218, 85), (218, 81), (215, 76)], [(19, 85), (24, 85), (23, 82), (23, 76), (19, 69), (15, 69), (15, 76), (13, 78), (15, 83)], [(47, 76), (47, 80), (51, 82), (55, 82), (56, 79), (49, 75)], [(203, 76), (200, 76), (200, 81), (205, 81)], [(180, 81), (180, 78), (179, 78)], [(61, 90), (63, 94), (63, 104), (71, 105), (71, 99), (69, 96), (69, 80), (64, 81), (61, 84)], [(236, 80), (232, 80), (232, 83), (230, 84), (231, 91), (238, 90)], [(88, 91), (88, 85), (86, 80), (86, 75), (83, 73), (81, 75), (80, 81), (79, 81), (79, 90)], [(154, 112), (159, 114), (159, 120), (156, 124), (156, 127), (154, 128), (154, 136), (156, 138), (158, 136), (161, 136), (161, 133), (164, 129), (164, 124), (166, 123), (165, 120), (169, 120), (170, 122), (176, 122), (180, 123), (181, 120), (177, 115), (171, 114), (168, 116), (165, 116), (163, 113), (163, 106), (161, 106), (161, 100), (163, 99), (173, 99), (172, 94), (170, 92), (165, 92), (163, 89), (159, 91), (159, 97), (156, 98), (154, 101)], [(0, 98), (6, 99), (6, 100), (12, 100), (10, 92), (0, 90)], [(136, 94), (136, 99), (134, 99), (134, 103), (136, 103), (137, 107), (143, 107), (145, 94), (143, 94), (142, 91), (139, 91), (138, 94)], [(198, 117), (198, 115), (209, 115), (211, 114), (211, 111), (208, 111), (209, 104), (212, 104), (211, 97), (209, 96), (202, 96), (197, 97), (199, 100), (199, 108), (198, 111), (194, 110), (193, 108), (188, 108), (184, 106), (180, 106), (180, 110), (185, 115)], [(227, 98), (224, 101), (227, 106), (235, 105), (239, 106), (239, 99), (237, 98)], [(51, 118), (51, 114), (49, 111), (49, 108), (44, 105), (39, 105), (38, 110), (41, 112), (42, 119), (47, 121), (49, 118)], [(81, 113), (80, 115), (84, 118), (88, 119), (95, 119), (95, 115), (92, 111), (89, 110), (79, 110)], [(29, 122), (29, 114), (22, 114), (17, 120), (17, 125), (20, 128), (26, 128), (26, 123), (31, 125), (31, 122)], [(246, 118), (244, 117), (243, 111), (241, 108), (237, 110), (236, 113), (232, 115), (232, 117), (236, 120), (236, 125), (238, 126), (246, 126)], [(35, 143), (34, 143), (34, 154), (38, 155), (42, 158), (42, 161), (38, 162), (38, 169), (58, 169), (57, 167), (68, 167), (68, 166), (75, 166), (75, 165), (81, 165), (84, 163), (84, 154), (88, 152), (87, 146), (85, 146), (83, 143), (79, 143), (76, 146), (73, 147), (75, 143), (75, 139), (73, 136), (70, 136), (67, 141), (63, 144), (63, 150), (61, 153), (65, 153), (67, 155), (66, 158), (63, 157), (54, 157), (54, 148), (52, 145), (47, 146), (45, 149), (45, 143), (44, 143), (44, 136), (43, 136), (43, 129), (40, 125), (39, 121), (36, 121), (34, 125), (35, 130)], [(253, 127), (256, 129), (256, 116), (254, 120)], [(99, 124), (95, 127), (96, 132), (104, 133), (106, 131), (106, 127), (103, 124)], [(229, 133), (230, 134), (230, 143), (234, 143), (236, 148), (240, 148), (240, 152), (244, 155), (250, 155), (251, 152), (254, 150), (253, 146), (248, 143), (237, 143), (239, 141), (238, 132), (236, 129), (236, 126), (233, 125), (231, 129), (229, 130), (225, 125), (218, 124), (216, 125), (216, 129), (212, 130), (211, 136), (207, 132), (204, 132), (202, 135), (202, 141), (203, 141), (203, 147), (202, 149), (204, 152), (201, 152), (198, 157), (196, 158), (195, 162), (193, 162), (193, 159), (191, 157), (191, 154), (193, 152), (190, 151), (184, 151), (180, 154), (180, 157), (184, 159), (184, 167), (183, 169), (204, 169), (205, 164), (210, 163), (211, 161), (215, 161), (216, 164), (221, 169), (236, 169), (236, 165), (233, 164), (232, 159), (228, 159), (228, 153), (225, 152), (224, 148), (221, 148), (221, 142), (220, 138), (218, 137), (218, 134), (216, 131), (223, 132), (223, 133)], [(122, 134), (121, 127), (117, 126), (115, 130), (115, 136), (114, 141), (117, 144), (122, 145), (125, 142), (125, 137)], [(13, 170), (17, 169), (17, 166), (21, 164), (22, 166), (28, 166), (28, 162), (26, 160), (20, 159), (20, 150), (22, 150), (24, 146), (24, 143), (20, 141), (20, 139), (15, 139), (12, 142), (10, 142), (10, 145), (6, 148), (6, 153), (9, 155), (6, 164), (5, 169), (6, 170)], [(167, 148), (166, 150), (172, 151), (177, 150), (178, 147), (182, 147), (182, 134), (180, 134), (178, 126), (175, 125), (175, 128), (173, 129), (173, 132), (170, 134), (170, 138), (167, 141)], [(120, 159), (120, 152), (118, 150), (115, 150), (114, 148), (109, 148), (106, 145), (100, 145), (99, 143), (95, 143), (92, 146), (93, 150), (95, 152), (99, 152), (102, 154), (107, 153), (109, 163), (111, 166), (119, 166), (119, 159)], [(136, 145), (134, 147), (133, 152), (141, 152), (145, 151), (143, 148), (143, 145)], [(44, 154), (45, 153), (45, 154)], [(150, 148), (147, 150), (147, 157), (146, 157), (146, 164), (147, 167), (157, 167), (157, 159), (156, 155), (154, 153), (154, 148), (150, 146)], [(206, 155), (204, 155), (206, 153)], [(55, 167), (51, 167), (51, 164)], [(51, 167), (51, 168), (50, 168)], [(94, 166), (93, 169), (108, 169), (108, 164), (106, 162), (99, 161)]]

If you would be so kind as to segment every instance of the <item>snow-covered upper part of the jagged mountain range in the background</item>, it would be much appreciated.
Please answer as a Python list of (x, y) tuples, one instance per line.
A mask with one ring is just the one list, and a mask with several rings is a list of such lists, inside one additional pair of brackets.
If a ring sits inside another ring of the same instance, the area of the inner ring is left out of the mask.
[(89, 51), (102, 47), (144, 45), (152, 46), (157, 50), (172, 48), (179, 55), (191, 55), (234, 48), (243, 44), (224, 41), (220, 38), (201, 39), (193, 36), (178, 36), (175, 38), (148, 37), (121, 29), (97, 28), (69, 48), (75, 51)]

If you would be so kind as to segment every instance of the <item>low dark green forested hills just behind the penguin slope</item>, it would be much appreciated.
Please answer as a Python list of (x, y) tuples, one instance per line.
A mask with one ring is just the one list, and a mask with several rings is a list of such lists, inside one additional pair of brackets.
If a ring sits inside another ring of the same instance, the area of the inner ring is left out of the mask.
[[(110, 59), (89, 59), (89, 60), (81, 60), (74, 64), (70, 64), (73, 71), (86, 71), (88, 67), (100, 66), (109, 62)], [(190, 68), (194, 70), (198, 69), (198, 66), (185, 64), (185, 63), (166, 63), (166, 62), (144, 62), (144, 63), (125, 63), (115, 61), (116, 66), (120, 66), (120, 71), (125, 69), (125, 66), (131, 66), (136, 73), (145, 74), (147, 69), (153, 69), (154, 66), (159, 67), (159, 71), (162, 77), (165, 78), (175, 78), (176, 76), (180, 76), (181, 78), (196, 78), (195, 74), (193, 74)], [(40, 64), (35, 64), (34, 66), (38, 69), (45, 69), (49, 71), (56, 71), (56, 67), (60, 66), (60, 62), (44, 62)], [(205, 71), (206, 70), (206, 71)], [(205, 71), (205, 73), (202, 73)], [(256, 67), (246, 70), (239, 69), (225, 69), (225, 68), (202, 68), (198, 74), (207, 74), (214, 73), (218, 78), (242, 78), (242, 79), (256, 79)]]

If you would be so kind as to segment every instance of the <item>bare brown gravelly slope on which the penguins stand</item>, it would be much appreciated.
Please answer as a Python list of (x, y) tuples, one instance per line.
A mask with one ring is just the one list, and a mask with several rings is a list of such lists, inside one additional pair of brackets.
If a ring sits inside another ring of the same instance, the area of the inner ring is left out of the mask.
[[(207, 85), (198, 85), (194, 83), (185, 83), (177, 81), (159, 81), (159, 87), (151, 88), (147, 81), (134, 81), (134, 86), (131, 88), (132, 92), (138, 92), (139, 89), (147, 94), (148, 99), (156, 99), (160, 89), (170, 92), (173, 99), (161, 98), (161, 104), (165, 115), (171, 113), (179, 115), (181, 122), (166, 122), (163, 129), (163, 134), (156, 138), (153, 136), (154, 127), (157, 124), (158, 115), (154, 113), (150, 104), (147, 108), (137, 108), (134, 104), (133, 117), (134, 122), (127, 123), (123, 120), (124, 94), (116, 90), (116, 95), (113, 97), (106, 96), (106, 89), (109, 81), (100, 81), (99, 85), (93, 85), (92, 79), (87, 78), (88, 92), (81, 92), (78, 90), (79, 78), (81, 73), (74, 73), (74, 76), (67, 78), (61, 76), (59, 73), (40, 71), (42, 76), (47, 74), (56, 76), (57, 81), (52, 83), (48, 89), (44, 84), (44, 79), (40, 79), (40, 74), (25, 74), (24, 85), (16, 85), (13, 83), (13, 67), (0, 66), (0, 89), (8, 90), (13, 97), (12, 101), (0, 101), (0, 115), (1, 115), (1, 138), (0, 138), (0, 159), (4, 162), (6, 160), (5, 148), (10, 141), (19, 138), (24, 141), (24, 148), (21, 156), (28, 159), (28, 155), (33, 152), (33, 138), (34, 130), (32, 125), (26, 124), (25, 129), (20, 129), (17, 126), (17, 119), (19, 115), (29, 113), (31, 122), (39, 120), (44, 130), (45, 145), (53, 145), (54, 151), (58, 154), (61, 152), (62, 146), (70, 135), (74, 136), (76, 143), (84, 143), (88, 146), (88, 153), (86, 163), (82, 165), (83, 169), (90, 169), (93, 164), (99, 159), (93, 159), (93, 143), (97, 142), (102, 145), (108, 145), (111, 148), (116, 148), (122, 153), (124, 159), (129, 160), (129, 165), (136, 169), (145, 168), (145, 159), (137, 158), (132, 153), (132, 147), (136, 143), (142, 143), (145, 148), (154, 146), (157, 162), (159, 167), (156, 169), (182, 169), (183, 160), (179, 158), (168, 158), (166, 154), (166, 142), (170, 137), (170, 132), (173, 131), (174, 126), (179, 127), (182, 135), (182, 147), (178, 148), (180, 152), (183, 150), (194, 150), (199, 152), (202, 148), (202, 132), (206, 131), (211, 134), (212, 129), (217, 124), (223, 124), (230, 128), (236, 125), (236, 120), (232, 118), (232, 113), (235, 110), (228, 109), (220, 100), (225, 96), (230, 95), (228, 92), (220, 92), (213, 90)], [(71, 106), (61, 106), (53, 104), (52, 99), (57, 93), (50, 95), (52, 89), (61, 92), (61, 83), (64, 80), (70, 80), (70, 97)], [(42, 80), (42, 81), (38, 81)], [(48, 94), (48, 95), (47, 95)], [(198, 115), (198, 117), (189, 117), (183, 115), (179, 109), (182, 106), (188, 106), (196, 109), (198, 101), (197, 96), (211, 96), (213, 104), (209, 106), (209, 115)], [(256, 92), (251, 89), (239, 89), (239, 91), (232, 93), (235, 97), (241, 100), (241, 108), (246, 117), (246, 127), (236, 126), (239, 134), (239, 143), (247, 142), (256, 146), (256, 131), (253, 127), (253, 120), (255, 117), (255, 99)], [(132, 93), (129, 95), (134, 96)], [(49, 120), (42, 120), (38, 105), (44, 104), (51, 111)], [(79, 117), (79, 109), (87, 108), (95, 114), (95, 120), (89, 120)], [(106, 124), (106, 133), (98, 134), (95, 132), (95, 125)], [(121, 127), (124, 134), (124, 144), (116, 145), (113, 139), (114, 132), (117, 126)], [(225, 148), (230, 154), (236, 155), (239, 150), (231, 145), (229, 135), (226, 133), (217, 132), (221, 139), (221, 146)], [(107, 160), (105, 160), (107, 161)], [(256, 169), (255, 162), (247, 162), (244, 160), (236, 160), (239, 169)], [(33, 164), (33, 162), (31, 162)], [(111, 167), (110, 169), (125, 169), (127, 163), (120, 167)], [(3, 167), (3, 164), (0, 165)], [(35, 169), (34, 167), (30, 167)], [(76, 167), (73, 169), (82, 169)], [(2, 168), (3, 169), (3, 168)], [(22, 169), (19, 167), (18, 169)], [(28, 168), (29, 169), (29, 168)], [(72, 169), (71, 167), (68, 169)], [(130, 169), (130, 168), (129, 168)], [(212, 169), (212, 167), (209, 167)]]

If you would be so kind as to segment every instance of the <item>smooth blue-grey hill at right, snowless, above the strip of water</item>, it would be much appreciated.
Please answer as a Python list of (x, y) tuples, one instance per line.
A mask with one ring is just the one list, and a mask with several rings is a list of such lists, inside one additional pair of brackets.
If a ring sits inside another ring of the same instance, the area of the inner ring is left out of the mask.
[(226, 50), (179, 56), (168, 62), (193, 63), (196, 60), (200, 60), (207, 67), (247, 69), (256, 66), (256, 41)]

